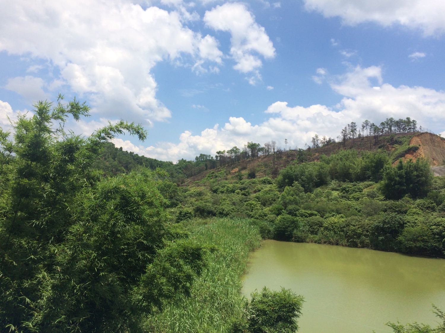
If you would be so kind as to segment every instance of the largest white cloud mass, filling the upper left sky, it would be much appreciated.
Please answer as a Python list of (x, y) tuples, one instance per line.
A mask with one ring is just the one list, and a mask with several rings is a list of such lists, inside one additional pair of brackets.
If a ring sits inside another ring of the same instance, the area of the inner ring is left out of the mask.
[[(191, 18), (177, 9), (182, 2), (164, 2), (176, 10), (144, 9), (123, 0), (6, 2), (0, 12), (0, 51), (49, 60), (61, 73), (56, 87), (67, 84), (77, 95), (88, 95), (100, 115), (125, 111), (128, 120), (163, 121), (171, 112), (156, 98), (150, 74), (156, 63), (182, 54), (202, 70), (218, 71), (215, 65), (222, 63), (214, 37), (183, 24)], [(32, 76), (10, 79), (5, 87), (27, 99), (44, 95), (43, 80)]]

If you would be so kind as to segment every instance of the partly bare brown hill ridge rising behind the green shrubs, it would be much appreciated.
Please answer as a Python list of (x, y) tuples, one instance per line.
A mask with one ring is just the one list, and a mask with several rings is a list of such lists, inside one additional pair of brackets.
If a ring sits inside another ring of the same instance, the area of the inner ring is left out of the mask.
[(140, 166), (151, 170), (159, 167), (166, 170), (172, 181), (178, 184), (190, 184), (205, 178), (210, 170), (221, 167), (232, 173), (241, 172), (247, 175), (249, 172), (255, 172), (259, 177), (275, 177), (279, 170), (295, 160), (299, 163), (315, 162), (322, 155), (329, 156), (345, 149), (355, 149), (359, 152), (381, 150), (394, 164), (400, 158), (405, 161), (421, 157), (426, 159), (430, 165), (437, 166), (444, 164), (443, 160), (445, 159), (445, 139), (427, 132), (409, 132), (378, 137), (374, 135), (360, 136), (340, 142), (329, 140), (317, 143), (315, 141), (312, 147), (288, 149), (287, 151), (277, 145), (275, 153), (272, 149), (267, 149), (267, 144), (265, 144), (265, 147), (257, 147), (259, 151), (256, 154), (252, 154), (249, 149), (247, 151), (239, 150), (239, 155), (234, 155), (233, 150), (218, 151), (215, 158), (211, 155), (200, 154), (194, 161), (181, 159), (176, 164), (124, 151), (122, 147), (117, 148), (113, 143), (106, 143), (105, 149), (102, 151), (101, 157), (94, 163), (94, 167), (103, 170), (108, 176), (127, 173)]

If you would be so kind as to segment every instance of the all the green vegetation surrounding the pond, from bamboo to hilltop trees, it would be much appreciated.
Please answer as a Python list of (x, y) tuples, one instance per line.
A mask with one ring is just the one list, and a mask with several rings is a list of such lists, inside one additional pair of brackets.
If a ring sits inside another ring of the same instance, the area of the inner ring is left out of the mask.
[[(416, 150), (415, 120), (350, 123), (337, 141), (316, 135), (292, 152), (287, 140), (248, 142), (171, 163), (109, 143), (145, 140), (134, 123), (65, 132), (88, 114), (59, 96), (0, 130), (2, 331), (295, 332), (298, 291), (240, 296), (249, 253), (267, 238), (445, 258), (445, 178), (400, 159)], [(370, 136), (372, 149), (359, 149)], [(388, 325), (445, 332), (434, 311), (436, 328)]]

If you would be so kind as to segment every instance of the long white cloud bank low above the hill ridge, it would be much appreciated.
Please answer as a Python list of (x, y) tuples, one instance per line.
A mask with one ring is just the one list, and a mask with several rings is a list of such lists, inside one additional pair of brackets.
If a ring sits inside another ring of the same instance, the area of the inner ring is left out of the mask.
[[(326, 69), (325, 73), (328, 76)], [(322, 71), (319, 71), (320, 73)], [(336, 138), (345, 124), (364, 119), (380, 122), (388, 117), (416, 119), (417, 123), (440, 132), (445, 125), (445, 92), (425, 87), (394, 87), (384, 83), (379, 66), (352, 67), (344, 75), (326, 80), (341, 95), (336, 105), (292, 106), (285, 101), (272, 103), (264, 111), (268, 118), (258, 124), (243, 117), (230, 117), (223, 127), (215, 125), (200, 135), (184, 131), (179, 143), (158, 143), (156, 147), (139, 146), (140, 152), (158, 159), (176, 161), (193, 159), (200, 153), (212, 154), (248, 141), (261, 143), (275, 140), (284, 147), (304, 147), (316, 133)], [(117, 145), (117, 147), (120, 147)]]

